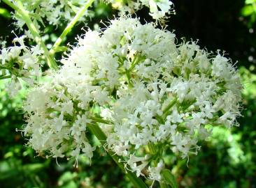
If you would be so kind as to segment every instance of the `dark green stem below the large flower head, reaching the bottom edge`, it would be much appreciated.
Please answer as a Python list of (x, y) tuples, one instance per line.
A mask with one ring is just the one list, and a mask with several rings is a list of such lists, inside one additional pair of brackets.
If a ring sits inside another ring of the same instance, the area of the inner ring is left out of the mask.
[[(104, 134), (104, 132), (99, 127), (99, 125), (97, 125), (97, 123), (93, 123), (93, 124), (92, 123), (87, 123), (87, 127), (90, 130), (90, 132), (92, 132), (92, 134), (94, 134), (97, 137), (97, 139), (99, 139), (102, 146), (104, 146), (106, 144), (106, 134)], [(138, 178), (131, 171), (126, 171), (125, 170), (125, 165), (122, 162), (119, 162), (119, 157), (117, 155), (115, 155), (114, 152), (112, 152), (110, 150), (107, 150), (107, 152), (108, 152), (108, 155), (110, 155), (112, 157), (112, 159), (115, 161), (115, 163), (118, 164), (120, 169), (124, 173), (126, 173), (127, 177), (129, 178), (129, 180), (131, 180), (131, 182), (134, 184), (135, 187), (137, 187), (137, 188), (148, 188), (147, 185), (145, 185), (145, 183), (141, 180), (141, 178)]]

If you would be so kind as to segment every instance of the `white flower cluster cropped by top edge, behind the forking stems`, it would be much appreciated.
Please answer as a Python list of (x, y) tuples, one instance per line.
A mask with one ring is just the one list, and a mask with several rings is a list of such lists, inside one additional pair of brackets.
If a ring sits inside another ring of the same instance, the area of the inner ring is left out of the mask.
[[(20, 6), (16, 0), (12, 0), (15, 5)], [(46, 19), (49, 24), (59, 25), (64, 22), (69, 22), (78, 10), (85, 6), (87, 0), (21, 0), (24, 9), (29, 12), (32, 21), (35, 19), (38, 22), (43, 23), (43, 19)], [(25, 24), (19, 13), (15, 13), (14, 18), (17, 19), (17, 27), (22, 28)], [(85, 17), (81, 17), (80, 20), (84, 20)]]

